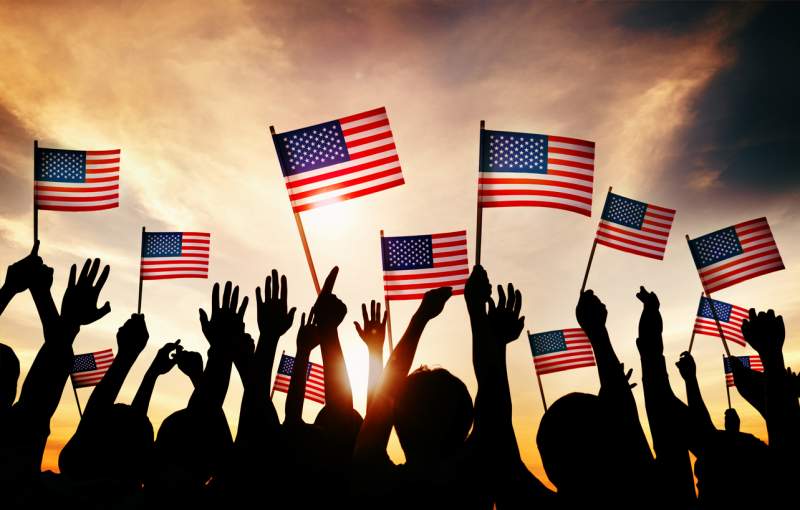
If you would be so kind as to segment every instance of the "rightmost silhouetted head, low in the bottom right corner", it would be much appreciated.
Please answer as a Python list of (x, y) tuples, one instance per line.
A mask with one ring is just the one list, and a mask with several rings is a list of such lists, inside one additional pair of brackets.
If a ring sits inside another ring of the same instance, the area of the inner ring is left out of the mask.
[(715, 431), (694, 465), (701, 506), (763, 508), (778, 478), (771, 466), (769, 448), (755, 436)]

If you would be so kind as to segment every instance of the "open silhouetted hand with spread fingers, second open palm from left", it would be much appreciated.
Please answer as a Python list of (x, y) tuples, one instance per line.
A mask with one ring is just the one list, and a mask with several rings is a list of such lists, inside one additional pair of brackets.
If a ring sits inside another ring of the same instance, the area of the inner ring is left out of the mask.
[[(222, 301), (219, 298), (219, 283), (214, 284), (211, 293), (211, 317), (200, 309), (200, 326), (212, 351), (221, 351), (233, 357), (237, 354), (237, 343), (245, 341), (244, 312), (248, 298), (242, 299), (239, 306), (239, 287), (231, 282), (225, 283)], [(251, 339), (252, 340), (252, 339)]]

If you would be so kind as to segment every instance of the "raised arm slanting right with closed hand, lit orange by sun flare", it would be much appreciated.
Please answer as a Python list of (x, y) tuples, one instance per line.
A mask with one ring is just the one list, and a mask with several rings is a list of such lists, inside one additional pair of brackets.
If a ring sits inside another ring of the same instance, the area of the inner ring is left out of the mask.
[(452, 294), (453, 289), (450, 287), (426, 292), (419, 308), (411, 317), (406, 332), (389, 357), (389, 362), (373, 394), (372, 404), (367, 409), (367, 416), (356, 440), (355, 462), (365, 465), (386, 458), (386, 445), (392, 430), (394, 398), (399, 394), (414, 362), (422, 331), (428, 322), (442, 312)]

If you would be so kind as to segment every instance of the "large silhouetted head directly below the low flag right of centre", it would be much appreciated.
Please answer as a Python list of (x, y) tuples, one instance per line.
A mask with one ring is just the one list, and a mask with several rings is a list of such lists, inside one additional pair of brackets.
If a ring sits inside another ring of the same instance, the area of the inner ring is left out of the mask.
[(559, 495), (584, 498), (616, 485), (612, 480), (623, 473), (614, 466), (619, 452), (613, 429), (596, 395), (570, 393), (544, 413), (536, 444)]

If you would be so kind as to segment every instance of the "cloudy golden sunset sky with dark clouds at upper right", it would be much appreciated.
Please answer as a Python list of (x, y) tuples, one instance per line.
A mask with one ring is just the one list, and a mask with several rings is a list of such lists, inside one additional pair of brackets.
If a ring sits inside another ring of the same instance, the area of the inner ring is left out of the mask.
[[(715, 297), (774, 308), (787, 326), (787, 364), (800, 368), (797, 239), (800, 173), (798, 5), (592, 2), (10, 2), (0, 4), (0, 265), (30, 249), (32, 143), (122, 150), (121, 206), (98, 213), (40, 214), (40, 254), (56, 268), (56, 301), (69, 266), (111, 265), (102, 297), (112, 312), (77, 340), (76, 352), (112, 347), (135, 311), (140, 231), (208, 231), (209, 280), (145, 282), (150, 341), (119, 401), (130, 402), (158, 347), (181, 339), (205, 355), (199, 307), (214, 281), (232, 280), (253, 299), (272, 268), (289, 300), (307, 310), (314, 289), (268, 126), (280, 131), (379, 106), (387, 108), (406, 184), (303, 213), (318, 271), (341, 268), (348, 305), (340, 329), (356, 408), (366, 402), (367, 351), (351, 326), (360, 304), (382, 299), (378, 233), (466, 229), (474, 256), (478, 129), (548, 133), (596, 142), (593, 215), (541, 208), (490, 209), (481, 259), (495, 283), (523, 292), (532, 332), (576, 327), (574, 306), (609, 186), (677, 209), (662, 262), (600, 247), (589, 288), (608, 306), (621, 361), (640, 381), (635, 347), (639, 285), (662, 303), (665, 356), (686, 349), (700, 283), (684, 235), (766, 216), (785, 271)], [(321, 276), (323, 277), (323, 276)], [(392, 304), (399, 338), (415, 302)], [(255, 308), (247, 329), (257, 336)], [(297, 321), (278, 350), (294, 353)], [(41, 346), (29, 296), (0, 317), (0, 341), (22, 377)], [(734, 354), (751, 350), (731, 345)], [(727, 406), (722, 346), (698, 337), (693, 353), (715, 423)], [(319, 352), (312, 361), (320, 361)], [(426, 329), (414, 362), (447, 368), (475, 395), (463, 299)], [(277, 368), (277, 363), (276, 363)], [(527, 340), (508, 348), (514, 427), (523, 460), (546, 476), (535, 446), (543, 408)], [(596, 392), (583, 368), (542, 378), (548, 402)], [(177, 370), (159, 379), (150, 407), (157, 428), (191, 392)], [(89, 389), (78, 390), (85, 403)], [(634, 389), (646, 428), (641, 385)], [(44, 469), (77, 425), (67, 385), (51, 423)], [(766, 439), (757, 413), (735, 391), (742, 428)], [(232, 376), (225, 411), (235, 427), (241, 400)], [(274, 398), (283, 415), (284, 395)], [(312, 421), (319, 406), (306, 402)], [(235, 429), (234, 429), (235, 430)], [(390, 454), (402, 461), (395, 439)]]

